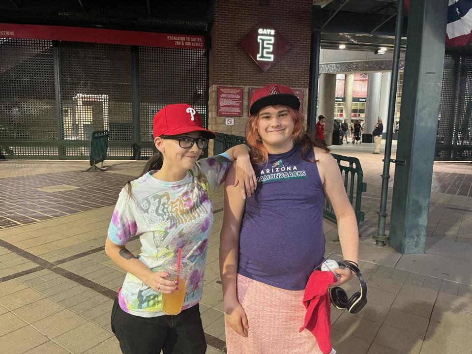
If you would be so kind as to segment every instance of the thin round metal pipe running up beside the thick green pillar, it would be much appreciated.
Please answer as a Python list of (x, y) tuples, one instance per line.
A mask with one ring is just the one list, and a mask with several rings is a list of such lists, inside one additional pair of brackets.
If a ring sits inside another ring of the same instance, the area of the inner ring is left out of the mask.
[(388, 236), (385, 235), (385, 224), (387, 218), (387, 194), (388, 179), (390, 178), (390, 155), (392, 152), (392, 136), (393, 136), (393, 116), (395, 115), (395, 106), (397, 101), (397, 84), (398, 84), (398, 64), (400, 61), (400, 47), (402, 44), (403, 32), (403, 0), (397, 3), (397, 21), (395, 25), (395, 46), (393, 48), (392, 60), (392, 80), (390, 82), (390, 98), (388, 101), (388, 117), (387, 117), (387, 136), (385, 139), (385, 154), (383, 157), (383, 174), (382, 174), (382, 192), (380, 197), (379, 223), (377, 225), (376, 246), (385, 246)]

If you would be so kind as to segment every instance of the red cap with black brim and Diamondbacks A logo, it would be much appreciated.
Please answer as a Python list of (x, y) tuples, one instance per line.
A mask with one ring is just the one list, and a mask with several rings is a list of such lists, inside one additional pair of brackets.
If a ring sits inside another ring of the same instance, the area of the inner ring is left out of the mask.
[(297, 110), (300, 108), (300, 100), (288, 86), (268, 84), (252, 95), (249, 114), (252, 116), (259, 112), (261, 108), (276, 105), (288, 106)]

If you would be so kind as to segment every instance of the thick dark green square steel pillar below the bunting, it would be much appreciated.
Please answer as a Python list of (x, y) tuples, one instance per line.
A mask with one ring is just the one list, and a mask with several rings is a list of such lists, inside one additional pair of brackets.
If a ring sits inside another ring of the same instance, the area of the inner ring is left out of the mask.
[(410, 2), (389, 235), (389, 244), (401, 253), (423, 253), (426, 242), (447, 5), (447, 0)]

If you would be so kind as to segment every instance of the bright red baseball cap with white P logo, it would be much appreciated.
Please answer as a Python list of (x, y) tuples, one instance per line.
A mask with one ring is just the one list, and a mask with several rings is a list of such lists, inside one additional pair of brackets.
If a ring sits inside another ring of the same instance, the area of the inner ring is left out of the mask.
[(180, 135), (193, 131), (200, 131), (209, 139), (216, 137), (214, 132), (203, 127), (197, 110), (186, 103), (165, 106), (155, 114), (152, 122), (154, 139), (162, 135)]

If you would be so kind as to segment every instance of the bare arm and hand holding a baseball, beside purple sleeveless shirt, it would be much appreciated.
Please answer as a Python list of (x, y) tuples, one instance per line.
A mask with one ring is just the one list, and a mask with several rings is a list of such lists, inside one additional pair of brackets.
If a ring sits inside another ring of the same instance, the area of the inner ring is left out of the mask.
[[(359, 257), (359, 233), (354, 209), (349, 202), (344, 188), (343, 179), (336, 160), (329, 153), (318, 154), (319, 168), (323, 169), (324, 196), (333, 207), (338, 225), (338, 236), (341, 250), (345, 260), (358, 263)], [(335, 269), (341, 275), (333, 286), (339, 286), (351, 280), (354, 273), (348, 269)]]

